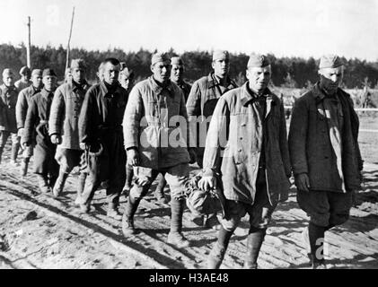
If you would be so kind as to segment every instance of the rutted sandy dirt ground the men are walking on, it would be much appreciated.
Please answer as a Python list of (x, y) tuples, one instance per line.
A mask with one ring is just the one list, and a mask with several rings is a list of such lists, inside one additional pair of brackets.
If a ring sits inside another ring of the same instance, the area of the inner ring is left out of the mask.
[[(376, 120), (366, 125), (376, 126)], [(365, 124), (364, 124), (365, 126)], [(369, 127), (373, 128), (373, 127)], [(377, 134), (361, 134), (365, 158), (365, 183), (356, 195), (350, 220), (326, 233), (325, 254), (331, 268), (378, 268), (378, 145)], [(183, 233), (189, 248), (166, 243), (170, 206), (150, 193), (136, 213), (140, 232), (124, 238), (120, 222), (106, 217), (105, 191), (94, 197), (95, 210), (80, 214), (74, 205), (75, 178), (67, 179), (60, 198), (40, 195), (31, 173), (22, 178), (19, 167), (9, 162), (9, 145), (0, 165), (0, 268), (206, 268), (207, 255), (215, 243), (215, 228), (204, 228), (184, 213)], [(191, 172), (196, 172), (196, 166)], [(154, 186), (153, 186), (154, 189)], [(168, 188), (166, 195), (169, 196)], [(121, 204), (125, 196), (121, 196)], [(122, 209), (123, 210), (123, 209)], [(246, 250), (248, 218), (235, 230), (221, 268), (242, 268)], [(261, 248), (259, 268), (308, 268), (302, 230), (307, 217), (295, 200), (277, 206)]]

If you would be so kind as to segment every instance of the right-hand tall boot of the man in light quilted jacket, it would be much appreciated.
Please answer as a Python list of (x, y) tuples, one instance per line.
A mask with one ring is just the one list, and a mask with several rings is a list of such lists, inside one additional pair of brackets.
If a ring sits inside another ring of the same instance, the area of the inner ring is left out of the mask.
[(178, 248), (189, 247), (189, 240), (182, 235), (182, 214), (184, 213), (184, 200), (171, 198), (171, 230), (167, 242)]

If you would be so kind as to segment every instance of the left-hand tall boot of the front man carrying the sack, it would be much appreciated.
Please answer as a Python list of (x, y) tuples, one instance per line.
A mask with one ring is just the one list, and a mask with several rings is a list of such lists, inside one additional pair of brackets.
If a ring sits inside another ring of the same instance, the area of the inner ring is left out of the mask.
[(221, 225), (218, 233), (218, 240), (215, 242), (214, 247), (211, 249), (207, 257), (207, 269), (219, 269), (224, 259), (225, 251), (227, 250), (228, 243), (233, 236), (233, 231), (225, 230)]

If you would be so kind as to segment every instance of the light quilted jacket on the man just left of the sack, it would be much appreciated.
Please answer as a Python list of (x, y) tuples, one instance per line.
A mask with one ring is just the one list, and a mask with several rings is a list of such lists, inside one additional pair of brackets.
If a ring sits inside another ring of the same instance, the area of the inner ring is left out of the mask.
[(137, 148), (141, 167), (158, 170), (189, 162), (188, 116), (184, 94), (176, 84), (162, 88), (153, 76), (137, 83), (122, 126), (125, 148)]

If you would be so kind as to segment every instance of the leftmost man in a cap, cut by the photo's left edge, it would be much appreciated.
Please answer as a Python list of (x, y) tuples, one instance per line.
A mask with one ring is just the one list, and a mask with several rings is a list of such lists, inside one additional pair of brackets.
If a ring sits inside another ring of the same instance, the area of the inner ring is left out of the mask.
[(17, 135), (16, 103), (18, 91), (13, 85), (14, 74), (11, 69), (4, 69), (3, 84), (0, 86), (0, 163), (8, 137), (12, 139), (11, 164), (15, 165), (20, 149), (20, 137)]

